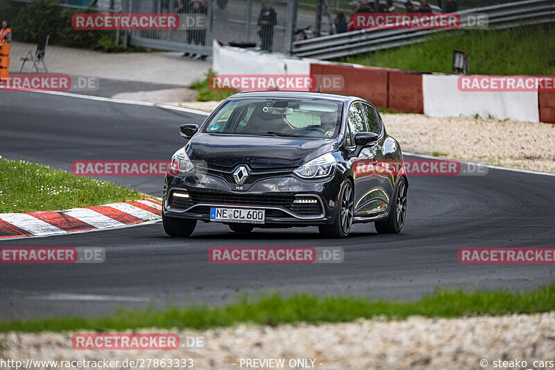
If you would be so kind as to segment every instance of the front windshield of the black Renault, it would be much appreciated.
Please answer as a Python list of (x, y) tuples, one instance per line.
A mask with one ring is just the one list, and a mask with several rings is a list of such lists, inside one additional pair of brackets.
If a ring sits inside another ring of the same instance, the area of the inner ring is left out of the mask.
[(324, 99), (230, 100), (204, 132), (331, 138), (339, 132), (342, 106)]

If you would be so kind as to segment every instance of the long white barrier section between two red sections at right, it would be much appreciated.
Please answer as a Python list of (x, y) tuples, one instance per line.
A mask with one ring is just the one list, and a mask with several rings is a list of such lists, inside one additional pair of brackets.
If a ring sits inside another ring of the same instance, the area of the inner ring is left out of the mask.
[(480, 117), (539, 122), (538, 92), (462, 92), (459, 76), (422, 76), (424, 114), (432, 117)]

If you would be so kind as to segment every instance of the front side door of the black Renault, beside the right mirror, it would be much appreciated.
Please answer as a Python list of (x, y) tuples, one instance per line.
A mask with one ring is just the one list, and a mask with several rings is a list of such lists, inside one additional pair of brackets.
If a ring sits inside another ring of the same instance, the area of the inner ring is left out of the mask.
[[(351, 153), (355, 151), (355, 135), (368, 131), (366, 118), (366, 104), (361, 101), (352, 102), (348, 109), (348, 127), (345, 137), (345, 147)], [(352, 170), (355, 180), (355, 216), (364, 217), (379, 212), (384, 203), (382, 179), (375, 174), (374, 162), (376, 145), (362, 149), (357, 157), (353, 157)]]

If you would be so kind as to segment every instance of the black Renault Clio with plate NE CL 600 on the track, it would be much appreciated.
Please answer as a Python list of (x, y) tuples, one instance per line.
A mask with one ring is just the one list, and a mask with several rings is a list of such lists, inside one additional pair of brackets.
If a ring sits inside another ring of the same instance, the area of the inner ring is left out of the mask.
[[(234, 94), (173, 154), (162, 218), (173, 237), (197, 221), (255, 227), (318, 226), (346, 237), (353, 223), (399, 233), (408, 181), (398, 142), (363, 99), (312, 92)], [(377, 167), (381, 166), (379, 170)]]

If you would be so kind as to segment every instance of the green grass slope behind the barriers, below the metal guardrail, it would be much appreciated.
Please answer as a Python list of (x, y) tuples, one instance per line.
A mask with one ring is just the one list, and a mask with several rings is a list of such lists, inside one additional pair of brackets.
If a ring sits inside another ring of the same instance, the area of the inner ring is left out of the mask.
[(469, 74), (555, 74), (555, 25), (443, 31), (427, 42), (341, 58), (377, 67), (452, 72), (453, 50), (470, 55)]

